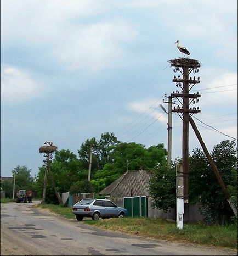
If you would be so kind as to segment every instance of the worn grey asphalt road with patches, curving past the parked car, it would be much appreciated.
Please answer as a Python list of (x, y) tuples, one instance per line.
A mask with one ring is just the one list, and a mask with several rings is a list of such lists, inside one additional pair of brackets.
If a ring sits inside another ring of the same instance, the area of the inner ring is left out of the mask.
[(100, 230), (34, 208), (36, 203), (1, 204), (1, 255), (237, 255)]

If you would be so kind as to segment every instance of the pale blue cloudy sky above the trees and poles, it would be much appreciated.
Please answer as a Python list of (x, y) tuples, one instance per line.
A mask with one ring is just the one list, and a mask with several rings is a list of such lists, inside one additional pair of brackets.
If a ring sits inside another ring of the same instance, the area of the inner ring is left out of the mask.
[[(1, 0), (1, 176), (37, 175), (46, 140), (78, 155), (88, 138), (167, 149), (160, 104), (177, 90), (168, 60), (199, 60), (208, 151), (237, 143), (236, 0)], [(179, 104), (178, 101), (176, 101)], [(201, 121), (203, 123), (201, 123)], [(214, 129), (216, 130), (214, 130)], [(232, 138), (231, 138), (232, 137)], [(189, 128), (189, 152), (201, 148)], [(172, 159), (182, 157), (182, 120), (172, 116)]]

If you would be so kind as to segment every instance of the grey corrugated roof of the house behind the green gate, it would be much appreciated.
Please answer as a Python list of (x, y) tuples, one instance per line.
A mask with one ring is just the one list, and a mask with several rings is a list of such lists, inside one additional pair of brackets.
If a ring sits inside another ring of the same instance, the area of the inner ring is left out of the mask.
[(110, 194), (111, 197), (149, 196), (150, 178), (150, 171), (127, 171), (99, 194)]

